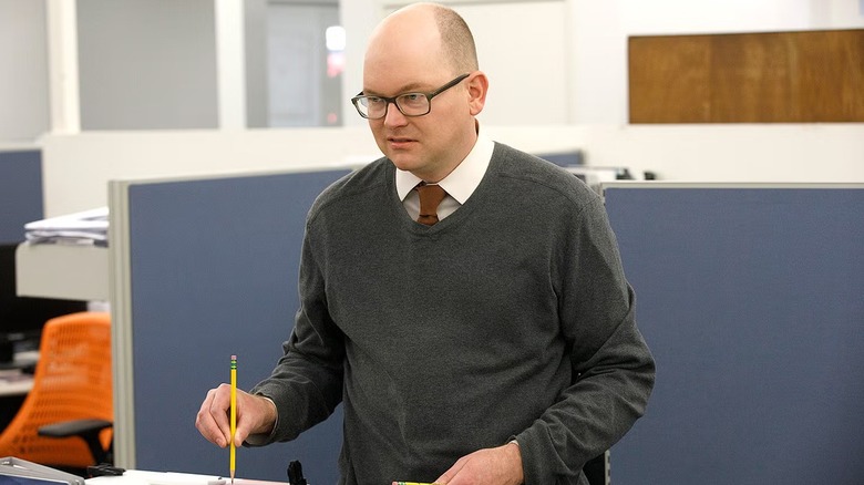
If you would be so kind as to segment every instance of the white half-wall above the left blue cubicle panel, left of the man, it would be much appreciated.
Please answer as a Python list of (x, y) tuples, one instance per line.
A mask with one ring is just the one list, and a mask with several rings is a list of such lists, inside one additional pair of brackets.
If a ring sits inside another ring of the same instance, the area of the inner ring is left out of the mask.
[(254, 131), (130, 131), (48, 135), (47, 217), (107, 205), (112, 179), (357, 165), (377, 157), (364, 127)]

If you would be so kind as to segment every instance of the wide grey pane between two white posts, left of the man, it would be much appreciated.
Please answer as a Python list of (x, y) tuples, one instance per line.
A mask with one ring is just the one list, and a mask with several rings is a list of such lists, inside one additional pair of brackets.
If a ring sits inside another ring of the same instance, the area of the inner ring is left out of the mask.
[(78, 0), (82, 130), (218, 125), (213, 0)]

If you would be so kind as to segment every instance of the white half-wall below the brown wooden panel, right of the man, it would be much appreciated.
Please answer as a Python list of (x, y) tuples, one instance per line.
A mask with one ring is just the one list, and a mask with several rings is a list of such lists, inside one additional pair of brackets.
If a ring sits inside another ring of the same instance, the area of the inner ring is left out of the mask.
[(864, 182), (864, 124), (588, 128), (587, 162), (679, 182)]

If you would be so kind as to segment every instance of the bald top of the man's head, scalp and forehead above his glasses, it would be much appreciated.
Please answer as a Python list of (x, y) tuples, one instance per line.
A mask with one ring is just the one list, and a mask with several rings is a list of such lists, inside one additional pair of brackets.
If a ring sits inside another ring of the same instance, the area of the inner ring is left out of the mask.
[(370, 56), (404, 52), (441, 63), (454, 75), (479, 69), (474, 37), (453, 9), (436, 3), (413, 3), (388, 16), (374, 30)]

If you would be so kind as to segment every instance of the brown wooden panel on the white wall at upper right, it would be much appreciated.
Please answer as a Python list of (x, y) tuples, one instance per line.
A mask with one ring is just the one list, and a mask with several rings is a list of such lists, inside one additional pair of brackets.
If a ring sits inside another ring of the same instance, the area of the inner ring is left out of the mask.
[(630, 123), (864, 122), (864, 29), (632, 37)]

